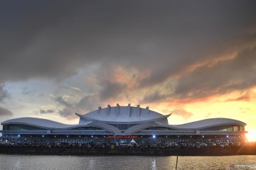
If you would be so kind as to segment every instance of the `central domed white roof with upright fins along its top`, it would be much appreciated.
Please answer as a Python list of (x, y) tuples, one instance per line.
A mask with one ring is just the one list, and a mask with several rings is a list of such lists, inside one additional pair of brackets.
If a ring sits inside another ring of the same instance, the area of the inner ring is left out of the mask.
[(100, 108), (97, 111), (92, 111), (81, 115), (80, 117), (87, 120), (110, 122), (110, 123), (142, 123), (144, 121), (154, 121), (161, 118), (166, 118), (169, 115), (162, 115), (155, 111), (149, 110), (149, 107), (140, 108), (128, 106), (117, 106), (111, 107), (110, 105), (107, 108)]

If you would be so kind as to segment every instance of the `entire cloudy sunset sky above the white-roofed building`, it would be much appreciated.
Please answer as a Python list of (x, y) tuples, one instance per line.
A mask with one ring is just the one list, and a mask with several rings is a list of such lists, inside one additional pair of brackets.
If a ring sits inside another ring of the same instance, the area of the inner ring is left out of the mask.
[(255, 1), (0, 1), (0, 121), (116, 103), (256, 132)]

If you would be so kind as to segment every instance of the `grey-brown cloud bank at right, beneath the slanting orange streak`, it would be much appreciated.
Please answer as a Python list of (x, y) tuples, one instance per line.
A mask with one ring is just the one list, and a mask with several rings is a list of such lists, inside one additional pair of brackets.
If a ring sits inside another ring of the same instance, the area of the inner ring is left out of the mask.
[(255, 86), (255, 74), (256, 47), (240, 52), (234, 60), (220, 62), (215, 67), (198, 67), (191, 74), (181, 77), (174, 96), (203, 98), (235, 90), (242, 91)]

